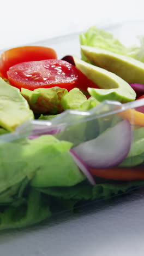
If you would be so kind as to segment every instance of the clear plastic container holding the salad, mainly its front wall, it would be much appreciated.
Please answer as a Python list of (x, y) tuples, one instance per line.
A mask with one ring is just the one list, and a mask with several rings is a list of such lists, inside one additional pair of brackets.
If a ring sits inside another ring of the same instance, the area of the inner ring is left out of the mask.
[[(117, 36), (123, 30), (119, 25), (110, 32)], [(73, 52), (69, 52), (71, 38)], [(79, 50), (77, 35), (41, 45), (52, 46), (61, 56)], [(143, 186), (144, 127), (136, 122), (144, 123), (137, 112), (142, 106), (144, 99), (125, 104), (104, 101), (87, 112), (67, 110), (49, 121), (29, 121), (1, 135), (0, 229), (33, 225), (58, 212)], [(117, 167), (125, 173), (137, 168), (139, 178), (132, 172), (131, 178), (111, 178)]]

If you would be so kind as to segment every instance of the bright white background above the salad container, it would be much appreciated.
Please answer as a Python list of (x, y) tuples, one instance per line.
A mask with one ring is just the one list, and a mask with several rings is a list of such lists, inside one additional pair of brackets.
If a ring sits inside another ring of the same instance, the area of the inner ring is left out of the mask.
[(0, 0), (0, 49), (89, 26), (142, 20), (142, 0)]

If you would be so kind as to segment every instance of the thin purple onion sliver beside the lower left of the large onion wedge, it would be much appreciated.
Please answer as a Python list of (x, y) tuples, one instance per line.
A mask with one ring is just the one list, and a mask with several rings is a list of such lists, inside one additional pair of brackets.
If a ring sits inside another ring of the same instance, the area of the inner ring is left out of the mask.
[(80, 168), (80, 170), (83, 172), (83, 174), (87, 177), (88, 181), (92, 184), (95, 185), (94, 178), (92, 174), (89, 172), (88, 167), (86, 166), (85, 162), (83, 162), (82, 159), (74, 152), (73, 149), (69, 150), (71, 156), (73, 157), (75, 163), (77, 166)]

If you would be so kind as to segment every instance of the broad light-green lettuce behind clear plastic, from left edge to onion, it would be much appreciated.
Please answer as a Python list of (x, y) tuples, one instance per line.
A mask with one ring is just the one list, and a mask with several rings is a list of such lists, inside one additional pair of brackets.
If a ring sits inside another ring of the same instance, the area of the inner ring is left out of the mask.
[(52, 135), (0, 144), (0, 193), (26, 177), (33, 179), (33, 185), (74, 185), (81, 182), (85, 177), (69, 153), (72, 145), (58, 141)]

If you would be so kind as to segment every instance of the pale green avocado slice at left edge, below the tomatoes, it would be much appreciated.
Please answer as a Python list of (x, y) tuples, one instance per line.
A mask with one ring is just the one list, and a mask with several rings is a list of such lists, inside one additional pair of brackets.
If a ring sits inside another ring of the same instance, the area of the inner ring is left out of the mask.
[(0, 78), (0, 126), (14, 131), (16, 126), (34, 118), (19, 89)]

